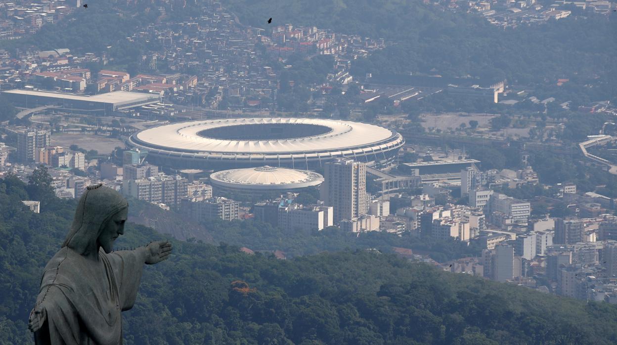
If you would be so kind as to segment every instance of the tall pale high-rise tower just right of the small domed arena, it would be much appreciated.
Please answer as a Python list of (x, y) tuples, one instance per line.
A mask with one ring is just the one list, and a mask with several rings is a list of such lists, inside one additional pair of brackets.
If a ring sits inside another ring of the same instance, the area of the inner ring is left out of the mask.
[(366, 214), (366, 165), (352, 159), (326, 163), (320, 192), (325, 205), (334, 207), (334, 222)]

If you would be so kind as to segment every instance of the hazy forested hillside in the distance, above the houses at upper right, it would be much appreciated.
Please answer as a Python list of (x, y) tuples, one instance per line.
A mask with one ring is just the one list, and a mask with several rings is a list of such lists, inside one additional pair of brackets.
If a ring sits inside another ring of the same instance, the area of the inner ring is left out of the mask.
[[(478, 14), (442, 11), (421, 0), (230, 0), (242, 23), (331, 29), (384, 38), (388, 48), (354, 60), (352, 72), (424, 72), (555, 83), (615, 77), (615, 16), (559, 20), (503, 30)], [(606, 89), (607, 93), (611, 88)], [(614, 90), (614, 88), (612, 88)], [(611, 97), (611, 94), (607, 94)], [(608, 98), (608, 97), (607, 97)]]

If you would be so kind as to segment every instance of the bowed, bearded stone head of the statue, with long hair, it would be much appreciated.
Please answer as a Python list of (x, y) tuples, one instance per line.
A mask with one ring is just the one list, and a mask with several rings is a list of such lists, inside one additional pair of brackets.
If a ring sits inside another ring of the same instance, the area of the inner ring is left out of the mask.
[(128, 216), (128, 202), (117, 191), (102, 185), (88, 186), (81, 195), (73, 225), (62, 247), (69, 247), (80, 254), (89, 248), (109, 253), (114, 241), (124, 233)]

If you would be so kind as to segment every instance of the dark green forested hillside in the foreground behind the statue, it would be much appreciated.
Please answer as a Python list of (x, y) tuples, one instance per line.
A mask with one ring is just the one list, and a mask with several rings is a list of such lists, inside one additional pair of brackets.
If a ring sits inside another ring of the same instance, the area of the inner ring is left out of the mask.
[[(36, 181), (0, 180), (0, 344), (31, 343), (27, 317), (75, 201), (41, 214)], [(163, 236), (130, 225), (118, 246)], [(617, 309), (459, 274), (376, 251), (277, 260), (174, 241), (148, 266), (125, 344), (613, 344)]]

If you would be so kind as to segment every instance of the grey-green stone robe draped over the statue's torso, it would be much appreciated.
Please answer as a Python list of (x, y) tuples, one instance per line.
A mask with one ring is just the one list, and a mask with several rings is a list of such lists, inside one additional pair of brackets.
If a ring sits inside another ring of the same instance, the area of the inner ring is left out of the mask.
[(35, 332), (35, 343), (122, 344), (120, 312), (133, 307), (143, 266), (136, 251), (105, 254), (101, 249), (93, 262), (68, 247), (60, 249), (41, 280), (37, 302), (44, 298), (47, 318)]

